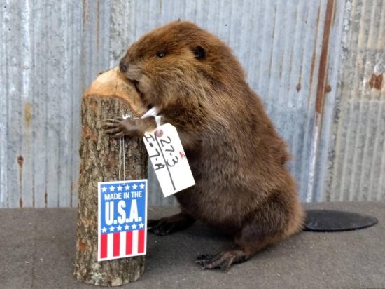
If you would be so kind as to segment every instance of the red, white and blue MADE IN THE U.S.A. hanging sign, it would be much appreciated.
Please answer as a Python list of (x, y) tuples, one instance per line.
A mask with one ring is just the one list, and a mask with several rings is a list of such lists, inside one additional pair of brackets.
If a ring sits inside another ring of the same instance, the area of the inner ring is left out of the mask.
[(98, 182), (97, 260), (146, 255), (147, 180)]

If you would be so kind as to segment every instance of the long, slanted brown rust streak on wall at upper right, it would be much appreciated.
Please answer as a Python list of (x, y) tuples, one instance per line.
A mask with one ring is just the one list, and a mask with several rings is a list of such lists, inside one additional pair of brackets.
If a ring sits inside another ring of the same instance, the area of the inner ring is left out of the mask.
[[(322, 39), (322, 48), (321, 48), (321, 57), (319, 60), (318, 68), (318, 83), (316, 90), (316, 112), (318, 114), (323, 113), (323, 104), (325, 102), (325, 88), (327, 81), (327, 70), (328, 70), (328, 49), (329, 49), (329, 38), (330, 30), (332, 26), (332, 14), (334, 9), (334, 0), (328, 0), (326, 4), (326, 13), (325, 13), (325, 26), (323, 28), (323, 39)], [(331, 90), (331, 87), (330, 87)]]

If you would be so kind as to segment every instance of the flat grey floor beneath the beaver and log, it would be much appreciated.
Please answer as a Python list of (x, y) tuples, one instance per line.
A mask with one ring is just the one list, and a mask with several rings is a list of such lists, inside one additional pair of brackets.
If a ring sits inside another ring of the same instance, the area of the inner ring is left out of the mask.
[[(197, 222), (169, 236), (148, 234), (144, 276), (123, 288), (385, 288), (385, 202), (311, 203), (377, 217), (374, 227), (339, 233), (302, 232), (267, 248), (228, 274), (202, 270), (197, 253), (230, 246)], [(151, 207), (148, 217), (176, 213)], [(73, 278), (76, 208), (0, 210), (0, 288), (94, 288)]]

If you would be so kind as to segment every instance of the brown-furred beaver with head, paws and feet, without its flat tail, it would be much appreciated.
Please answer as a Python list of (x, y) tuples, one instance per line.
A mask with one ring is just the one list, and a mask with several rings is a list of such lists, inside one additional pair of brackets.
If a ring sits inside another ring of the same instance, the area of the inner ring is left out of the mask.
[[(162, 123), (176, 126), (196, 182), (176, 194), (182, 213), (148, 222), (149, 229), (169, 234), (202, 220), (232, 234), (235, 248), (199, 261), (225, 271), (302, 230), (304, 212), (283, 166), (286, 144), (225, 43), (193, 23), (172, 22), (133, 43), (120, 69)], [(142, 136), (155, 121), (106, 128), (115, 137)]]

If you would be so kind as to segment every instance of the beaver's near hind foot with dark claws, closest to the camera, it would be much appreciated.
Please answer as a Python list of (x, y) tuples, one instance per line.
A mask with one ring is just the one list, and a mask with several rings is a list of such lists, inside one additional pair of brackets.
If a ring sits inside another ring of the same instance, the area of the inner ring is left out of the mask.
[(197, 263), (203, 266), (203, 269), (221, 268), (228, 273), (232, 264), (246, 261), (246, 255), (242, 250), (227, 250), (216, 255), (198, 254)]

